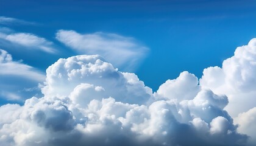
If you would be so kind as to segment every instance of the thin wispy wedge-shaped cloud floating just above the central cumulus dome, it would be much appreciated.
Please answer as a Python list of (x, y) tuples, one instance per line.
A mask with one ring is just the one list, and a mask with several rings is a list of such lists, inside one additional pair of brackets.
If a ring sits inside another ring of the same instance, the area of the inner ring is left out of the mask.
[(114, 66), (126, 70), (136, 68), (149, 50), (134, 38), (114, 33), (80, 34), (73, 30), (59, 30), (56, 38), (79, 54), (99, 54)]

